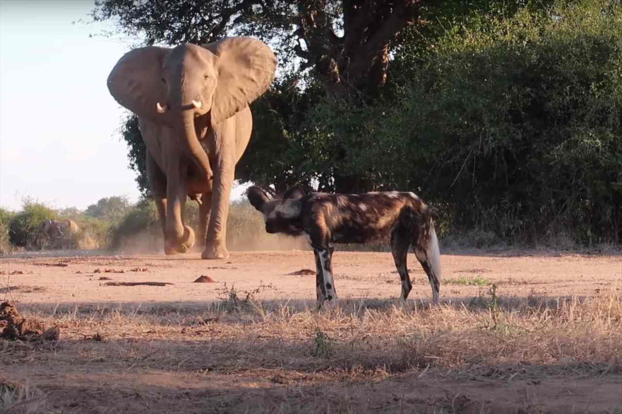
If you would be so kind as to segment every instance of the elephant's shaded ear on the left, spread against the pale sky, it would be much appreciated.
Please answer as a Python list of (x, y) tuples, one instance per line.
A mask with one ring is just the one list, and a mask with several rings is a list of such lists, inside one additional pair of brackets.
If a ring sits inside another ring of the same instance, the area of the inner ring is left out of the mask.
[(138, 116), (162, 119), (156, 104), (164, 104), (162, 61), (169, 49), (148, 46), (123, 55), (108, 75), (108, 90), (113, 98)]

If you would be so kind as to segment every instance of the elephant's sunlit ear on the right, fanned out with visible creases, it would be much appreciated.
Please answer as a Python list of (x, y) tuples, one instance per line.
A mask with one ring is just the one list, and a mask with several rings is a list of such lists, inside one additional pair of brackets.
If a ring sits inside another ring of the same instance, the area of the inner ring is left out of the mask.
[(218, 57), (218, 80), (211, 104), (211, 123), (218, 124), (269, 88), (274, 80), (276, 57), (264, 42), (251, 37), (228, 37), (202, 46)]

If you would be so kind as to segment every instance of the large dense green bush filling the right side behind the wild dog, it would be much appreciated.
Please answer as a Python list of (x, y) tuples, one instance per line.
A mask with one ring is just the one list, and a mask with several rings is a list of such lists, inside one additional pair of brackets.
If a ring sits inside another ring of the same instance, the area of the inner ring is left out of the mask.
[(314, 108), (308, 157), (346, 139), (340, 168), (419, 193), (443, 234), (482, 246), (620, 244), (620, 27), (620, 3), (596, 0), (473, 16), (397, 66), (412, 73), (391, 101)]

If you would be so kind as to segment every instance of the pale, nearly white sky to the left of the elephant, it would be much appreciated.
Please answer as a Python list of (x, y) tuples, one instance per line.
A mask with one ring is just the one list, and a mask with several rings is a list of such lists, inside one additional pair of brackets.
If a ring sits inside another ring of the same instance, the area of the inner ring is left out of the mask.
[[(88, 0), (0, 0), (0, 206), (139, 198), (106, 78), (129, 42), (90, 34)], [(82, 22), (80, 22), (82, 20)], [(75, 23), (72, 23), (75, 22)], [(234, 188), (239, 198), (244, 188)]]

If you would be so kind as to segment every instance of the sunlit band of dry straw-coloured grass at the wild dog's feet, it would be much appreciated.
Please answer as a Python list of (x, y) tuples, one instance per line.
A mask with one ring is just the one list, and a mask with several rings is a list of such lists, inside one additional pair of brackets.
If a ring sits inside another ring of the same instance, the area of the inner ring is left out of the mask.
[[(162, 369), (278, 370), (309, 380), (397, 372), (494, 379), (622, 374), (622, 301), (616, 292), (556, 300), (499, 298), (496, 292), (437, 308), (343, 301), (320, 312), (312, 303), (258, 301), (250, 293), (228, 290), (207, 310), (121, 306), (25, 315), (58, 324), (72, 341), (106, 338), (109, 346), (96, 352), (113, 352), (118, 364), (131, 359)], [(124, 342), (130, 337), (136, 341)], [(144, 341), (152, 356), (145, 355)], [(196, 352), (200, 358), (192, 357)]]

